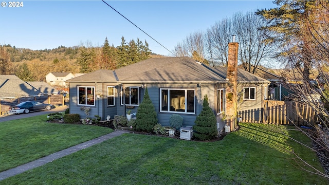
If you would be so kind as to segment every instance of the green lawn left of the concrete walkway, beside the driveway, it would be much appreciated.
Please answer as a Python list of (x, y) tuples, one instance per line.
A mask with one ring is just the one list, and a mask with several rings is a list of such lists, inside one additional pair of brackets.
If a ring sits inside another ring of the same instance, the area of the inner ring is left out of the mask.
[(0, 172), (113, 132), (105, 127), (46, 120), (43, 115), (0, 122)]

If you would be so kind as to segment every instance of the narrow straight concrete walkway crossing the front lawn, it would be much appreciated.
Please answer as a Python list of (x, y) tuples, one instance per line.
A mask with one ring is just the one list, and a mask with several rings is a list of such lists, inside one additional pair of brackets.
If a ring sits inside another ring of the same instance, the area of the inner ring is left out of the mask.
[(43, 158), (40, 158), (38, 160), (35, 160), (35, 161), (32, 161), (32, 162), (29, 162), (29, 163), (20, 165), (19, 167), (16, 167), (16, 168), (13, 168), (13, 169), (9, 169), (9, 170), (4, 171), (4, 172), (0, 172), (0, 181), (6, 179), (8, 177), (11, 177), (11, 176), (14, 176), (14, 175), (17, 175), (17, 174), (21, 174), (21, 173), (23, 173), (25, 171), (34, 169), (36, 167), (40, 167), (40, 166), (42, 166), (42, 165), (44, 165), (44, 164), (46, 164), (48, 162), (51, 162), (51, 161), (56, 160), (56, 159), (59, 159), (61, 157), (70, 155), (70, 154), (75, 153), (77, 151), (80, 151), (82, 149), (86, 149), (89, 146), (93, 146), (94, 144), (98, 144), (98, 143), (101, 143), (101, 142), (106, 141), (108, 139), (111, 139), (113, 137), (120, 136), (120, 135), (122, 135), (124, 133), (130, 133), (130, 131), (127, 131), (127, 130), (117, 130), (115, 132), (112, 132), (112, 133), (106, 134), (104, 136), (101, 136), (101, 137), (98, 137), (98, 138), (95, 138), (95, 139), (86, 141), (84, 143), (77, 144), (75, 146), (71, 146), (68, 149), (65, 149), (65, 150), (62, 150), (62, 151), (59, 151), (59, 152), (50, 154), (50, 155), (48, 155), (46, 157), (43, 157)]

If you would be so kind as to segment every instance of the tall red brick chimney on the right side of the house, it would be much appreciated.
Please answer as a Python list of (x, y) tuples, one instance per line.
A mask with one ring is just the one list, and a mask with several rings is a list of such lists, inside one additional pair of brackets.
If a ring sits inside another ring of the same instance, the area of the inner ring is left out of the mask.
[(228, 43), (228, 63), (227, 63), (227, 75), (228, 85), (226, 87), (226, 115), (228, 116), (227, 124), (230, 126), (230, 130), (233, 130), (236, 119), (237, 111), (237, 52), (239, 43), (235, 42), (235, 35), (233, 35), (233, 42)]

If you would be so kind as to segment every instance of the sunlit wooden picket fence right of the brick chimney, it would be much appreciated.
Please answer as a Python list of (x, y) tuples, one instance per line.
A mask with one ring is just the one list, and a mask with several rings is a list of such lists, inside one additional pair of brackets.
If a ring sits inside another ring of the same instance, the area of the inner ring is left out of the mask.
[(262, 122), (269, 124), (309, 125), (318, 121), (317, 113), (308, 105), (295, 101), (265, 100)]

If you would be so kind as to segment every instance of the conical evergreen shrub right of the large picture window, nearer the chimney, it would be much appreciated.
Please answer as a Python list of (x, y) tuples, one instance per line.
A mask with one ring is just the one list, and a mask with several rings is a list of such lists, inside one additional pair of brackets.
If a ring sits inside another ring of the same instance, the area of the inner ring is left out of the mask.
[(210, 140), (217, 136), (216, 116), (209, 106), (208, 96), (205, 95), (201, 113), (196, 117), (193, 126), (193, 136), (198, 140)]

